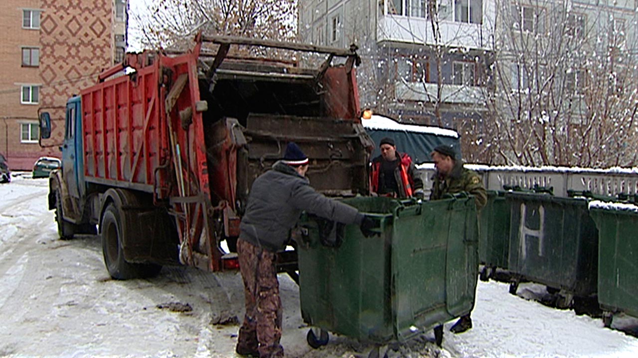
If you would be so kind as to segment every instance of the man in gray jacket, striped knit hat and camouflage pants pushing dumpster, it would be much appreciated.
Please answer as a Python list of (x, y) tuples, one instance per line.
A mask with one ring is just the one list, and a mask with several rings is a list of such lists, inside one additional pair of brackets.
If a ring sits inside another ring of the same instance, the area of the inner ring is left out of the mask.
[(283, 357), (275, 254), (283, 250), (302, 211), (343, 224), (358, 224), (365, 236), (372, 234), (375, 226), (372, 218), (352, 206), (316, 192), (306, 178), (308, 165), (302, 150), (288, 143), (283, 160), (256, 178), (250, 190), (237, 240), (246, 297), (246, 315), (235, 349), (238, 354)]

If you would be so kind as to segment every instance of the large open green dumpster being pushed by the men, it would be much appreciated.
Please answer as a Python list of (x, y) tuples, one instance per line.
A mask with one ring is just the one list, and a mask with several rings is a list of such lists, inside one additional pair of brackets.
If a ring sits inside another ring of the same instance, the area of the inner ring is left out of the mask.
[(385, 344), (471, 311), (478, 271), (473, 197), (344, 202), (374, 215), (380, 235), (366, 238), (359, 227), (345, 226), (338, 247), (326, 247), (317, 221), (302, 220), (306, 229), (297, 251), (306, 323)]

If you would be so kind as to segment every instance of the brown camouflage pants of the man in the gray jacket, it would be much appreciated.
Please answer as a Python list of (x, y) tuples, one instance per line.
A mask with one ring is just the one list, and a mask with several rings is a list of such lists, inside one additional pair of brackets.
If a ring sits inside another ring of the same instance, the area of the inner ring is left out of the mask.
[(239, 268), (244, 280), (246, 315), (239, 329), (237, 347), (259, 352), (261, 358), (283, 357), (281, 299), (275, 254), (244, 240), (237, 240)]

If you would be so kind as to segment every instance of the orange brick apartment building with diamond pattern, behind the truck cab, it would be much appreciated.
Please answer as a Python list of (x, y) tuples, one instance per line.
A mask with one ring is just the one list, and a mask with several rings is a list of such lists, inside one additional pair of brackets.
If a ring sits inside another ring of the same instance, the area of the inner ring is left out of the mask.
[[(61, 156), (66, 100), (121, 61), (127, 12), (126, 0), (0, 1), (0, 154), (12, 171)], [(39, 108), (53, 120), (45, 147)]]

